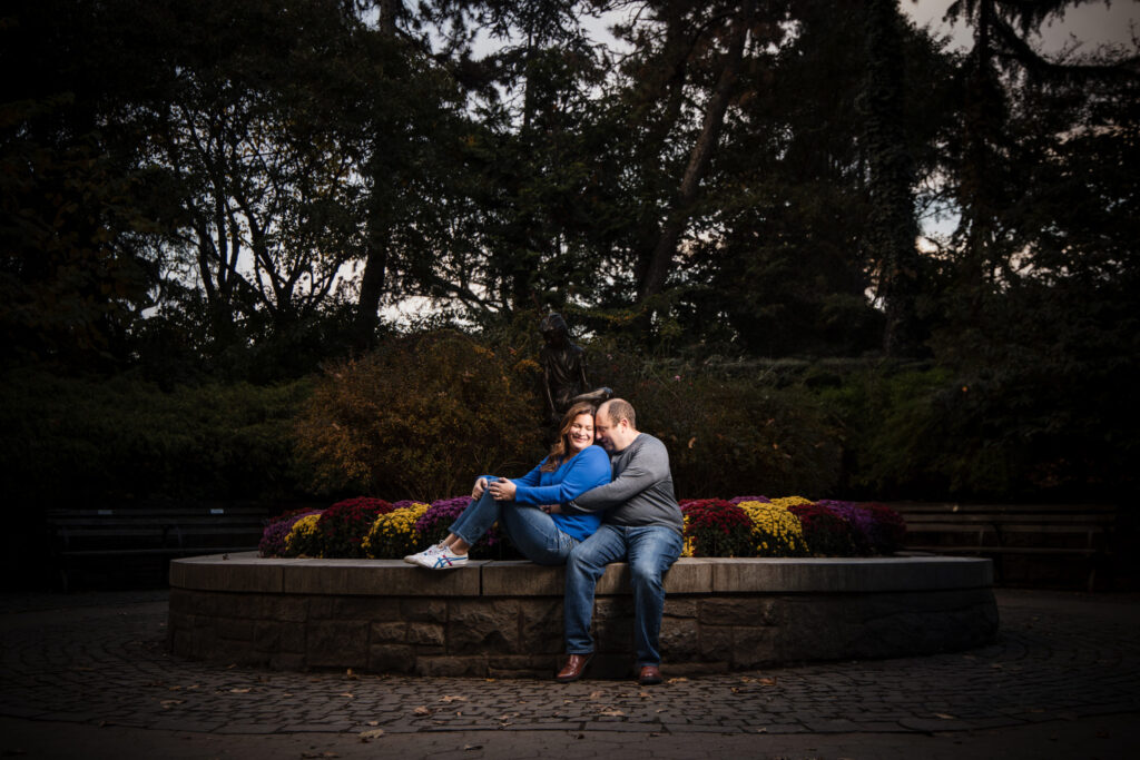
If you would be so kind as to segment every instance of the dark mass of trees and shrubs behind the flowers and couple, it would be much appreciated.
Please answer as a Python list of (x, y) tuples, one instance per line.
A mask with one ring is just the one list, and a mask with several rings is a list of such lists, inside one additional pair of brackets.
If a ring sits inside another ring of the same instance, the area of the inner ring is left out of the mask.
[(523, 472), (552, 308), (682, 496), (1125, 501), (1137, 51), (1026, 43), (1073, 5), (7, 3), (8, 502)]

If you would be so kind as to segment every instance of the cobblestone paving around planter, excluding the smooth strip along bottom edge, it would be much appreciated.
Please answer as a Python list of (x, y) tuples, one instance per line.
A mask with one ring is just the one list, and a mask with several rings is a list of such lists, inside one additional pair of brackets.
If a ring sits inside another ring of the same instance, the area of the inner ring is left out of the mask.
[[(641, 688), (617, 680), (556, 685), (226, 668), (165, 652), (163, 593), (5, 597), (0, 716), (246, 737), (356, 737), (380, 729), (424, 739), (488, 730), (692, 739), (942, 735), (1140, 713), (1140, 596), (1000, 590), (997, 599), (1000, 640), (980, 649), (674, 678)], [(668, 663), (665, 671), (668, 678)]]

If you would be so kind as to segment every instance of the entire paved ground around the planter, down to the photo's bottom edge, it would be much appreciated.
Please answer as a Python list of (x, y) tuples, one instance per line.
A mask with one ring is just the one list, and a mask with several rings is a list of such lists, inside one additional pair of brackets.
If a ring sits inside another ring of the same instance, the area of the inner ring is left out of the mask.
[(1140, 596), (997, 598), (982, 649), (641, 688), (225, 668), (166, 654), (163, 593), (0, 597), (0, 753), (1135, 757)]

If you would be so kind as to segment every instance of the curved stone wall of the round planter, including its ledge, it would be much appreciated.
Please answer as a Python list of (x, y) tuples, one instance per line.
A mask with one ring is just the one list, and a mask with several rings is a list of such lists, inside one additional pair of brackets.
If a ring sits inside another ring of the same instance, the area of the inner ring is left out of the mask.
[[(471, 562), (447, 572), (398, 559), (176, 559), (176, 655), (284, 670), (549, 677), (561, 664), (562, 567)], [(896, 657), (982, 646), (997, 634), (990, 559), (682, 558), (666, 577), (661, 654), (670, 675)], [(594, 605), (591, 675), (630, 672), (628, 569)]]

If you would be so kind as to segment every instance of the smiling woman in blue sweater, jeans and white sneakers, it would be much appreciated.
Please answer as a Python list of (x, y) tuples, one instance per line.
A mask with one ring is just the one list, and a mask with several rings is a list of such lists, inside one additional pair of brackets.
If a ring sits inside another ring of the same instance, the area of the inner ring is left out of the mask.
[(594, 443), (594, 406), (576, 403), (562, 417), (557, 443), (539, 466), (515, 481), (484, 476), (475, 481), (474, 499), (440, 544), (405, 562), (431, 570), (467, 563), (467, 550), (499, 521), (524, 557), (540, 565), (561, 565), (570, 549), (597, 530), (600, 513), (548, 514), (540, 505), (562, 504), (610, 482), (610, 458)]

